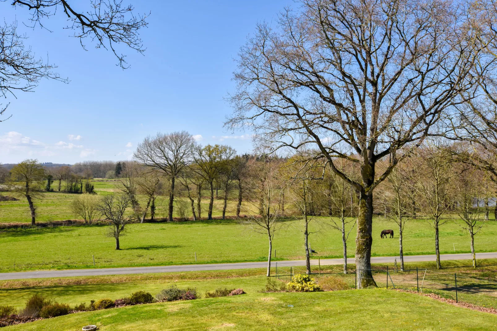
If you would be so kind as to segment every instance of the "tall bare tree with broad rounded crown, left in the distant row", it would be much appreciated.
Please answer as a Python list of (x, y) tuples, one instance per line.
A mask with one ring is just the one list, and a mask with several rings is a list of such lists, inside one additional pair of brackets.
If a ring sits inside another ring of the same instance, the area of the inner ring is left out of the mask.
[(183, 168), (191, 162), (195, 140), (186, 131), (158, 133), (139, 144), (135, 159), (164, 172), (170, 182), (168, 220), (172, 222), (174, 184)]

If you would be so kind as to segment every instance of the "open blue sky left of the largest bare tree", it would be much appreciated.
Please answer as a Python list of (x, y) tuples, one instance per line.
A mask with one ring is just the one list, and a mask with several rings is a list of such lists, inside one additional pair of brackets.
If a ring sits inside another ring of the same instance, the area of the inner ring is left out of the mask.
[[(70, 80), (42, 80), (34, 92), (0, 100), (10, 102), (12, 114), (0, 123), (1, 163), (125, 160), (144, 137), (178, 130), (201, 144), (251, 150), (250, 132), (223, 128), (231, 113), (224, 98), (234, 90), (234, 59), (257, 22), (274, 21), (293, 1), (127, 1), (137, 12), (152, 13), (140, 33), (147, 51), (124, 49), (131, 66), (124, 71), (110, 52), (84, 51), (71, 30), (62, 29), (62, 12), (45, 21), (52, 32), (33, 30), (22, 25), (26, 9), (0, 2), (4, 20), (17, 19), (26, 44)], [(74, 2), (86, 8), (89, 0)]]

